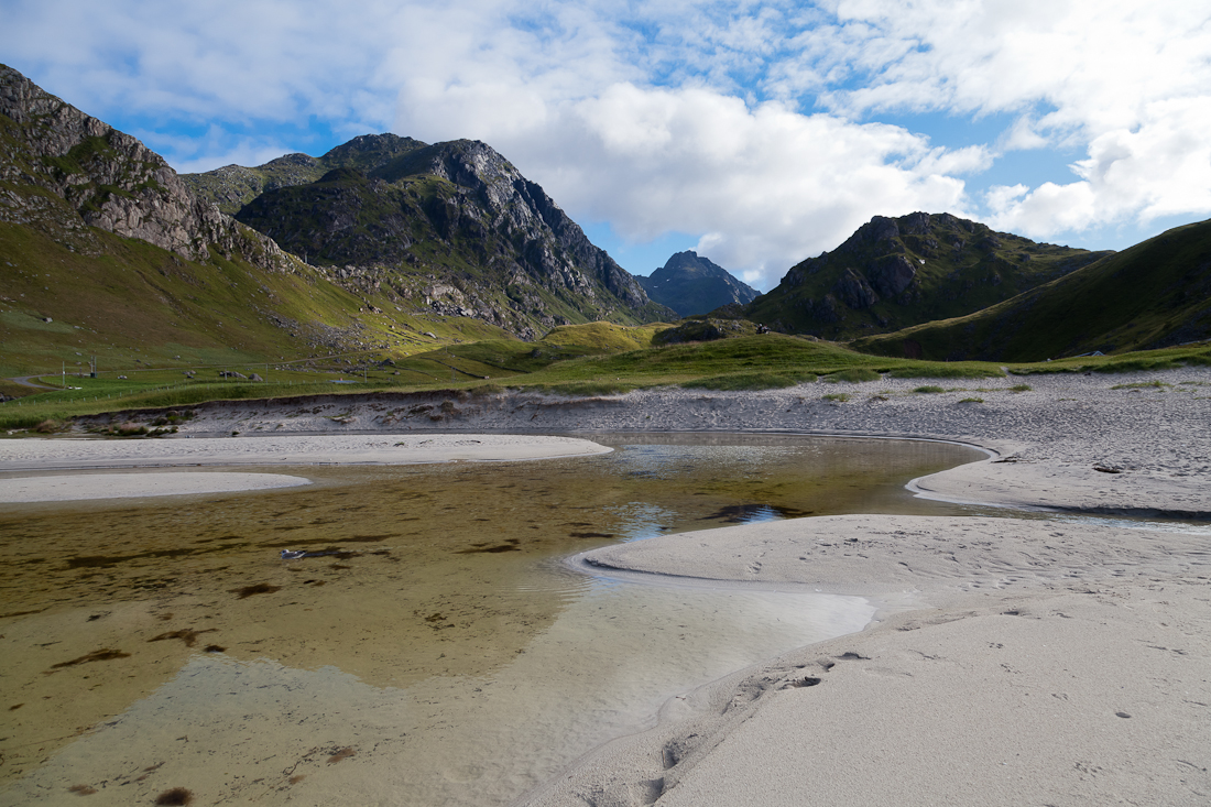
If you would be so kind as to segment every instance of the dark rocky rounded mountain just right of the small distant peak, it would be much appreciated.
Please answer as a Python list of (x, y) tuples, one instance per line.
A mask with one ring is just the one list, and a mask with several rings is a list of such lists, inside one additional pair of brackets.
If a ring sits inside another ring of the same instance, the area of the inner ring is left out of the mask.
[(745, 316), (791, 333), (853, 339), (962, 316), (1098, 261), (949, 213), (876, 216), (797, 264)]

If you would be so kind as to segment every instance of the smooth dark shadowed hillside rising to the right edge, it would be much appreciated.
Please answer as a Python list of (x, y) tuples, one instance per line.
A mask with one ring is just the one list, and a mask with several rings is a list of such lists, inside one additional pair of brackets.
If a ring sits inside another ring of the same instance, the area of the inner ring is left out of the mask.
[(1175, 228), (975, 314), (854, 347), (952, 361), (1041, 361), (1207, 338), (1211, 221)]

